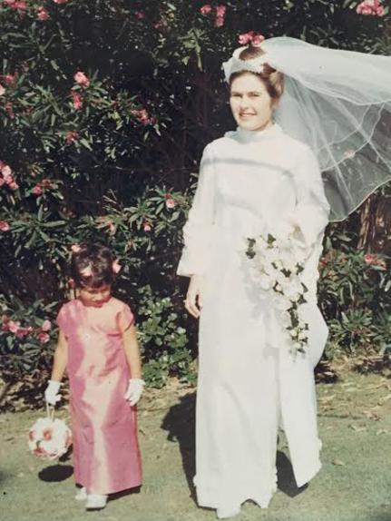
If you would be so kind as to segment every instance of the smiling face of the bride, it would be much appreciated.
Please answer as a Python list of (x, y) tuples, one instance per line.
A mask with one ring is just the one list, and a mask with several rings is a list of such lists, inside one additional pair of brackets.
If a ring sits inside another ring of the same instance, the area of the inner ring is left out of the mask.
[(242, 74), (230, 85), (230, 110), (239, 127), (257, 131), (272, 124), (272, 99), (255, 74)]

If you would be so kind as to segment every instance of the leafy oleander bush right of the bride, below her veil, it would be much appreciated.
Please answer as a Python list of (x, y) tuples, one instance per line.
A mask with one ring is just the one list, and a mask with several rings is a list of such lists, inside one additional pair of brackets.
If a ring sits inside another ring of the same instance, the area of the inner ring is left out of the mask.
[(329, 248), (320, 260), (319, 305), (339, 348), (385, 352), (391, 349), (390, 259), (357, 251), (351, 240), (343, 236), (339, 249)]

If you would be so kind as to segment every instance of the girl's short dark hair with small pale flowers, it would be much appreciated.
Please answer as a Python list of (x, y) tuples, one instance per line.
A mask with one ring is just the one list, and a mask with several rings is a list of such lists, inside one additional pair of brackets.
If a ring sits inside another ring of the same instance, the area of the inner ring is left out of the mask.
[(105, 246), (82, 244), (73, 251), (71, 276), (77, 288), (102, 288), (114, 280), (112, 252)]

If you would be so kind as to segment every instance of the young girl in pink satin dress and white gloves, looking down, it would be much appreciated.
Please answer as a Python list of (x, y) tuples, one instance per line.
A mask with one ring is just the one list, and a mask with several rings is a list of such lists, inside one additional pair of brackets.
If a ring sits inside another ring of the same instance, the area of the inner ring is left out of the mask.
[(73, 430), (75, 499), (86, 509), (106, 506), (107, 495), (142, 482), (135, 405), (144, 382), (130, 308), (111, 296), (118, 265), (101, 246), (73, 247), (77, 299), (61, 308), (52, 378), (44, 392), (55, 405), (67, 369)]

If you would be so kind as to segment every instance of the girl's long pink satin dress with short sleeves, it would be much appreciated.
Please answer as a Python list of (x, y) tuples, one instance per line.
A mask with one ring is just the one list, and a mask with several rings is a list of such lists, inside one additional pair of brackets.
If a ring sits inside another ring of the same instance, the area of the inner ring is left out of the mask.
[(74, 479), (95, 494), (139, 487), (136, 408), (124, 398), (131, 374), (122, 331), (132, 325), (132, 311), (113, 297), (102, 307), (75, 299), (57, 323), (68, 341)]

